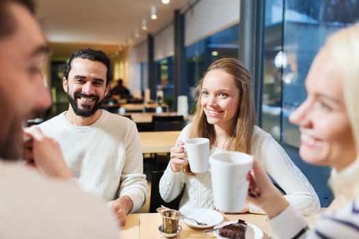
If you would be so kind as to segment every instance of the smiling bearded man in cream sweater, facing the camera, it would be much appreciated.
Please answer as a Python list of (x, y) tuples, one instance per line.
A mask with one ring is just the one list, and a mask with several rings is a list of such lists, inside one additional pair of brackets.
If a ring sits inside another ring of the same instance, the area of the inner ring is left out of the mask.
[(110, 88), (110, 61), (102, 51), (72, 54), (64, 72), (68, 111), (40, 124), (56, 139), (80, 186), (108, 201), (118, 223), (141, 208), (148, 191), (134, 122), (101, 110)]

